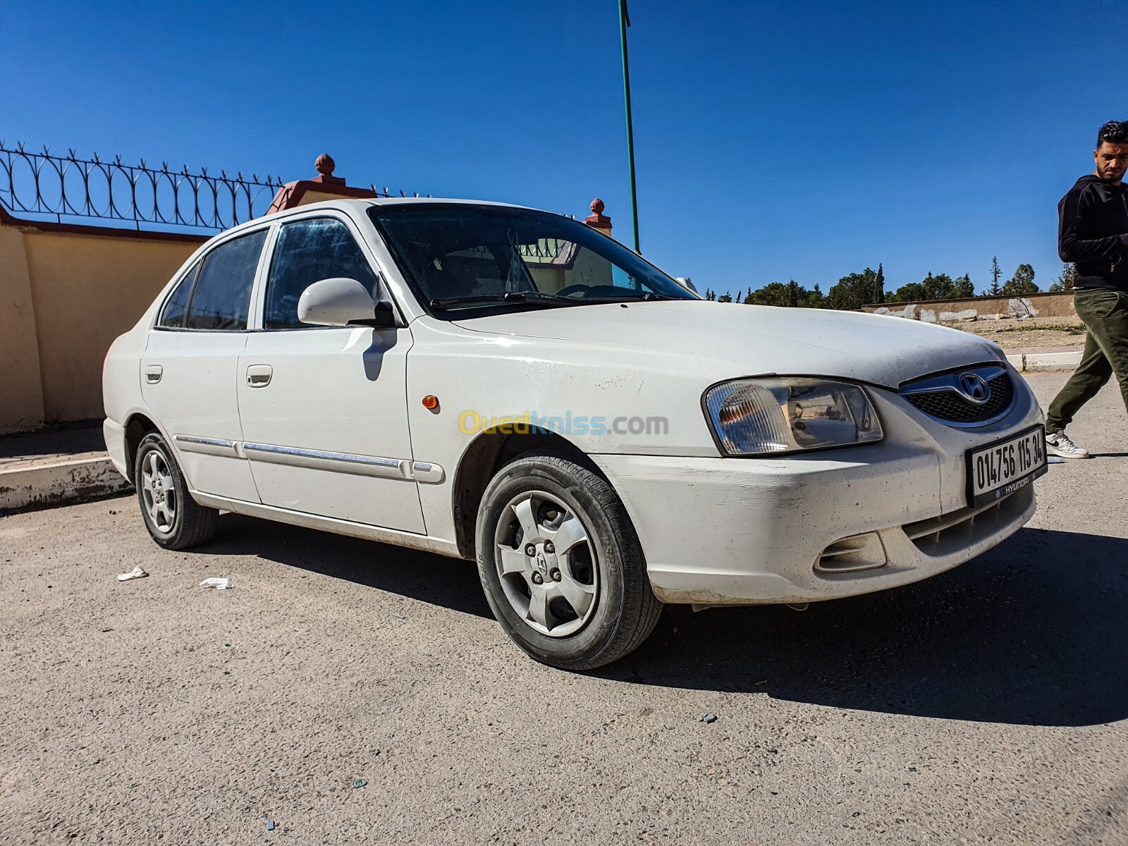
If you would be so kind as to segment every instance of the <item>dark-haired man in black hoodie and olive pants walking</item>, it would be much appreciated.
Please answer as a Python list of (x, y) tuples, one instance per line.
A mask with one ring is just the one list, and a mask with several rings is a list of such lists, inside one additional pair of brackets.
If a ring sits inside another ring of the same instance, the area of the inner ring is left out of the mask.
[(1065, 428), (1113, 373), (1128, 407), (1128, 121), (1101, 126), (1093, 160), (1096, 170), (1058, 203), (1058, 253), (1077, 265), (1073, 300), (1089, 329), (1081, 364), (1046, 415), (1046, 449), (1063, 458), (1089, 458)]

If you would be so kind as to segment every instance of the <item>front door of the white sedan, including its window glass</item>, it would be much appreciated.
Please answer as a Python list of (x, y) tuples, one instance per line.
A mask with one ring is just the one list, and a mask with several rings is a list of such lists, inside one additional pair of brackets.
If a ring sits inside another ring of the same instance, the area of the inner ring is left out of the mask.
[(333, 276), (370, 293), (379, 284), (346, 221), (284, 223), (262, 329), (239, 358), (244, 452), (267, 505), (422, 534), (405, 394), (411, 331), (299, 323), (302, 291)]

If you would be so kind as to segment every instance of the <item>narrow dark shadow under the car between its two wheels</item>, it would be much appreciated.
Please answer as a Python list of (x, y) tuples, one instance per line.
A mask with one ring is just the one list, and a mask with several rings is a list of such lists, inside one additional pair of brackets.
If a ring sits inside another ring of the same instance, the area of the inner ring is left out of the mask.
[(493, 619), (473, 562), (241, 514), (223, 514), (219, 526), (214, 540), (200, 547), (201, 553), (257, 555)]

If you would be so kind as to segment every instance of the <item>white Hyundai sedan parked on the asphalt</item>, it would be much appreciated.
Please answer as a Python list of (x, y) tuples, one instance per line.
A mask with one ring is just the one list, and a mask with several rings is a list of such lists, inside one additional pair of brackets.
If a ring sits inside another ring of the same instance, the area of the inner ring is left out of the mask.
[(233, 511), (476, 559), (539, 661), (662, 603), (804, 603), (941, 573), (1034, 511), (1042, 415), (1002, 351), (702, 300), (511, 205), (317, 203), (204, 244), (105, 363), (153, 539)]

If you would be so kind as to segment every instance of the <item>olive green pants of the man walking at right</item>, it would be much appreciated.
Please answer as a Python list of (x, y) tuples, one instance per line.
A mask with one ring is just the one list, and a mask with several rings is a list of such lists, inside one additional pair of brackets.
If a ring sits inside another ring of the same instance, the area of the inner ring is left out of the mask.
[(1077, 316), (1085, 321), (1089, 338), (1081, 364), (1050, 403), (1046, 431), (1060, 432), (1077, 411), (1116, 373), (1128, 408), (1128, 293), (1085, 289), (1074, 291)]

